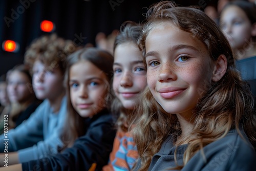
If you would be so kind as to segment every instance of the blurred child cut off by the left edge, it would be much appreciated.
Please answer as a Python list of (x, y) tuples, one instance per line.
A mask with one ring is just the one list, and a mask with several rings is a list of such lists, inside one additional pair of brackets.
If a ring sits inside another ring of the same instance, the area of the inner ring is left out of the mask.
[(6, 116), (10, 112), (10, 101), (7, 95), (6, 74), (0, 76), (0, 134), (4, 133)]

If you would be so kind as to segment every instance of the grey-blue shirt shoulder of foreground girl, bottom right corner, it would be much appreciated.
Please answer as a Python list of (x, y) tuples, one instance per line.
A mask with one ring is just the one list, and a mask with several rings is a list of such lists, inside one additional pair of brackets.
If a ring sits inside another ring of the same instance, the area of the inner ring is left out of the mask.
[[(230, 131), (193, 156), (184, 170), (255, 170), (256, 153), (248, 138)], [(188, 169), (189, 168), (189, 169)]]

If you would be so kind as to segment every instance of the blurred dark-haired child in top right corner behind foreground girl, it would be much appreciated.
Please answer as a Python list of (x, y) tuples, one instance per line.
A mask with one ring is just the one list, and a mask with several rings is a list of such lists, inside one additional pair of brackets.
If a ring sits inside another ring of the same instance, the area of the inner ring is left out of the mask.
[(236, 56), (236, 66), (245, 80), (256, 79), (256, 5), (246, 1), (227, 3), (220, 26)]

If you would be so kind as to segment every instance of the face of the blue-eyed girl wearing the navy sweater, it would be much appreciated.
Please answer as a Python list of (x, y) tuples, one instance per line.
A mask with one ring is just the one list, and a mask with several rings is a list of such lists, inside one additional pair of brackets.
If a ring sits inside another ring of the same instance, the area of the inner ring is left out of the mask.
[(105, 107), (108, 84), (105, 73), (90, 61), (82, 60), (71, 66), (70, 98), (81, 117), (92, 117)]

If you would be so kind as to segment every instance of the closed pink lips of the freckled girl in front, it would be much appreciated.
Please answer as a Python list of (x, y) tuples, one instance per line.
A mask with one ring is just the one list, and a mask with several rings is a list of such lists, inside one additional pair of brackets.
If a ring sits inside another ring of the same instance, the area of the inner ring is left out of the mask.
[(170, 87), (170, 88), (160, 89), (158, 92), (160, 93), (162, 98), (170, 99), (180, 95), (185, 90), (186, 89), (184, 88)]

